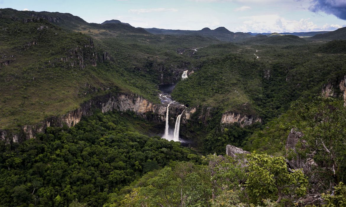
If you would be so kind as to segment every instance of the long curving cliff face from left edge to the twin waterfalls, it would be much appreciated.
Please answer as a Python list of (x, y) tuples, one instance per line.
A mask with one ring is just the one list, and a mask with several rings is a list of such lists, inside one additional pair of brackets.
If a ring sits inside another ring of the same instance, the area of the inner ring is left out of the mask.
[[(0, 130), (0, 140), (10, 142), (21, 142), (26, 139), (35, 138), (37, 133), (44, 133), (46, 127), (68, 127), (79, 123), (82, 116), (92, 115), (93, 109), (100, 109), (102, 112), (110, 110), (134, 111), (138, 115), (149, 121), (163, 123), (165, 121), (167, 105), (152, 103), (143, 97), (133, 94), (120, 93), (117, 95), (105, 95), (95, 97), (69, 113), (62, 116), (49, 117), (35, 125), (21, 127), (20, 131)], [(181, 105), (170, 106), (170, 119), (174, 120), (182, 113), (185, 107)]]

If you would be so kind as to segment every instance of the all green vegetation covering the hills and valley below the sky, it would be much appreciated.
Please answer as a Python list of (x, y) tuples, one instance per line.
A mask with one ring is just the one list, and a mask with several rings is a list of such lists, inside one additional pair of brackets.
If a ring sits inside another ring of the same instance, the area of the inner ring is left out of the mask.
[[(345, 206), (345, 28), (221, 42), (13, 9), (0, 25), (0, 206)], [(194, 111), (181, 116), (188, 147), (160, 137), (165, 83)], [(142, 102), (102, 102), (119, 94)], [(71, 127), (7, 134), (89, 100)]]

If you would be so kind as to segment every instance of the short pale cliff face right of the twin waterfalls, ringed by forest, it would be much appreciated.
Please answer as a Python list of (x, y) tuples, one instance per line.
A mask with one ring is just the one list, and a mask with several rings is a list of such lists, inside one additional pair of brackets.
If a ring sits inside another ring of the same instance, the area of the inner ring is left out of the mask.
[(254, 124), (256, 122), (261, 122), (261, 118), (255, 116), (246, 116), (234, 112), (226, 112), (222, 114), (221, 124), (233, 124), (239, 123), (240, 126), (244, 127), (247, 125)]

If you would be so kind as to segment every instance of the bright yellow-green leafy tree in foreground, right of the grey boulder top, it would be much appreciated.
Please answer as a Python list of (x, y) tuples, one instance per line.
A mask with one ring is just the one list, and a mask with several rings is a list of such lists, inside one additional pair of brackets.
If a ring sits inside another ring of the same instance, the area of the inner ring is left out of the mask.
[(251, 154), (246, 176), (246, 191), (255, 203), (266, 198), (280, 202), (282, 198), (299, 198), (307, 193), (305, 175), (301, 170), (289, 172), (284, 157)]

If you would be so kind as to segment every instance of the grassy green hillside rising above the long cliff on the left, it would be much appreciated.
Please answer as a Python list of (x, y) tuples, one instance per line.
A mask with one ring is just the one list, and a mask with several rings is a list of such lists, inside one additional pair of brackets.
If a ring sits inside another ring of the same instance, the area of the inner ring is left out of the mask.
[(45, 16), (32, 18), (32, 12), (0, 11), (0, 129), (66, 114), (110, 92), (136, 93), (158, 102), (157, 85), (177, 80), (181, 68), (190, 64), (189, 56), (175, 51), (216, 42), (161, 38), (140, 28), (89, 24), (57, 12), (34, 12)]

